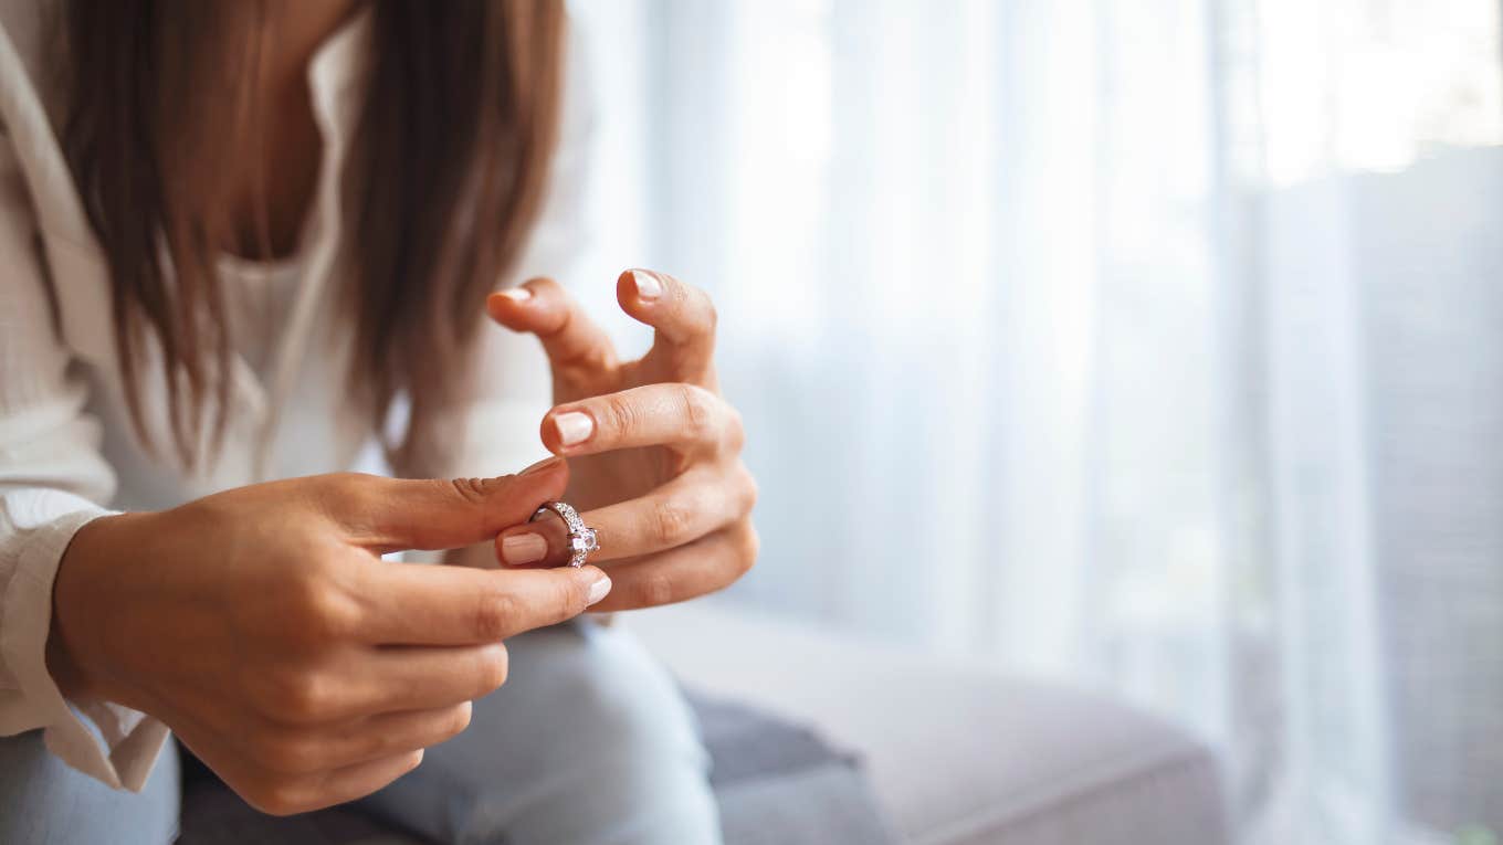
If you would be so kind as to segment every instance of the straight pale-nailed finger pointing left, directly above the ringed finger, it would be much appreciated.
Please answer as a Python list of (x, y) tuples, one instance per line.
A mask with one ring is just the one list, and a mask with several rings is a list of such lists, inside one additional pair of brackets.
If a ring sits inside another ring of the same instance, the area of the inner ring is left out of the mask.
[(645, 385), (561, 404), (543, 418), (543, 444), (561, 456), (676, 445), (715, 453), (741, 447), (741, 415), (718, 395), (681, 382)]

